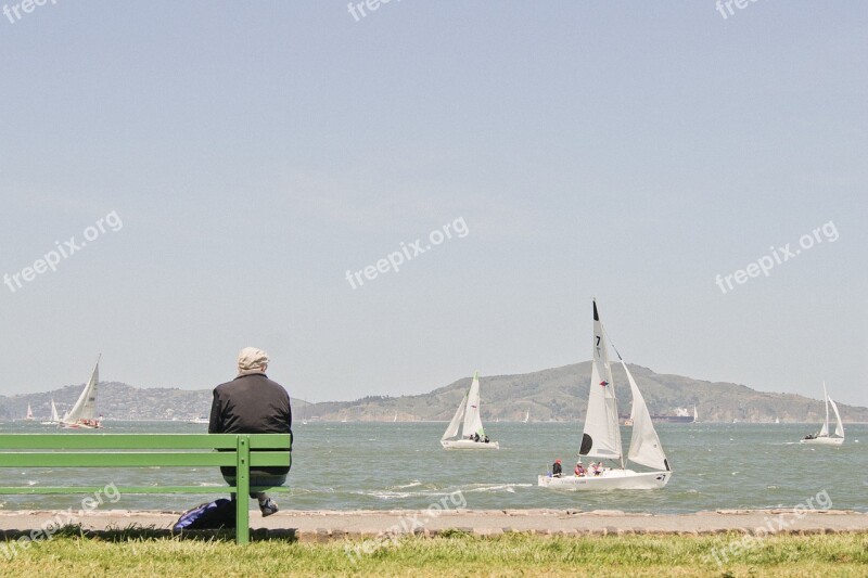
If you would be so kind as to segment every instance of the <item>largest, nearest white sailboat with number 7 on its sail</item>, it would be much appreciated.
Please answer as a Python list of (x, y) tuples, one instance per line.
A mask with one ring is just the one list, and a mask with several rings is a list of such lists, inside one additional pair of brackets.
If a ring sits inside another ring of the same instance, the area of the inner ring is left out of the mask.
[(585, 415), (585, 429), (578, 454), (588, 458), (612, 460), (617, 467), (603, 467), (599, 474), (588, 473), (584, 476), (560, 476), (551, 474), (538, 477), (538, 485), (545, 488), (571, 490), (649, 490), (662, 488), (672, 477), (672, 470), (660, 438), (651, 422), (644, 398), (627, 364), (617, 354), (621, 365), (627, 375), (633, 394), (633, 436), (627, 452), (627, 460), (653, 468), (652, 472), (635, 472), (624, 464), (624, 452), (621, 445), (617, 400), (615, 384), (612, 380), (612, 368), (609, 363), (608, 338), (593, 300), (593, 359), (590, 371), (590, 393), (588, 411)]

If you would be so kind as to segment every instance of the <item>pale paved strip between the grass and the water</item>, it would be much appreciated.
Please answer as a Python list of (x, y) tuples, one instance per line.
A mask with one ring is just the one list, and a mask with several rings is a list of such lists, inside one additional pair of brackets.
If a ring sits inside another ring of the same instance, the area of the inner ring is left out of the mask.
[[(177, 512), (62, 511), (0, 512), (0, 531), (7, 536), (44, 528), (56, 521), (80, 524), (87, 531), (129, 527), (168, 531)], [(446, 529), (460, 529), (490, 536), (505, 531), (544, 535), (709, 535), (725, 531), (757, 534), (838, 534), (868, 531), (868, 513), (793, 510), (719, 510), (695, 514), (641, 514), (620, 511), (580, 512), (574, 510), (393, 510), (393, 511), (281, 511), (267, 518), (251, 513), (251, 528), (258, 535), (294, 536), (299, 540), (372, 538), (383, 532), (414, 532), (436, 536)], [(765, 528), (765, 530), (757, 530)]]

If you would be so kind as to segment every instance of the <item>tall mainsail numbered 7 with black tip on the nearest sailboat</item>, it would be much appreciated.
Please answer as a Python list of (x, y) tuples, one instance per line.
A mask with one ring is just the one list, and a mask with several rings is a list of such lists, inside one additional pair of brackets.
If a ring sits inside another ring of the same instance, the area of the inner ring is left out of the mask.
[(622, 457), (615, 386), (612, 383), (609, 347), (602, 323), (600, 323), (600, 316), (597, 313), (596, 300), (593, 301), (593, 359), (590, 369), (588, 411), (585, 415), (585, 431), (578, 453), (610, 460), (620, 460)]

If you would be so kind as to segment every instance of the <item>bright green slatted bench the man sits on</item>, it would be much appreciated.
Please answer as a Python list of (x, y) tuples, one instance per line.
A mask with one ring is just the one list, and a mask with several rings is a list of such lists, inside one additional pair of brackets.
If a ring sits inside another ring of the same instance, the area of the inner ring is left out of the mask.
[[(289, 450), (286, 448), (290, 448)], [(234, 486), (117, 486), (119, 493), (235, 492), (235, 540), (250, 541), (250, 468), (292, 465), (292, 434), (2, 434), (0, 467), (234, 466)], [(30, 451), (33, 450), (33, 451)], [(284, 451), (279, 451), (284, 450)], [(90, 486), (5, 486), (0, 494), (92, 493)]]

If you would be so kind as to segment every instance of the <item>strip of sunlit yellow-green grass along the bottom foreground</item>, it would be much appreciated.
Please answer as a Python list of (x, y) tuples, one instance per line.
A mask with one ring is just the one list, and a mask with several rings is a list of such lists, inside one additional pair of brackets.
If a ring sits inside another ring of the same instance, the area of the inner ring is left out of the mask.
[[(455, 531), (407, 537), (350, 556), (347, 550), (359, 542), (267, 540), (238, 547), (231, 540), (135, 531), (90, 538), (67, 532), (12, 555), (0, 553), (0, 576), (868, 576), (868, 535), (771, 536), (732, 550), (742, 539), (738, 534), (481, 538)], [(718, 565), (712, 554), (719, 557), (727, 548), (728, 561)]]

